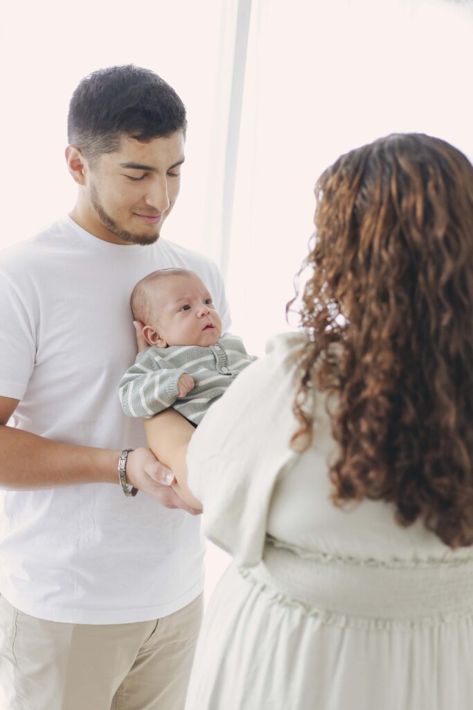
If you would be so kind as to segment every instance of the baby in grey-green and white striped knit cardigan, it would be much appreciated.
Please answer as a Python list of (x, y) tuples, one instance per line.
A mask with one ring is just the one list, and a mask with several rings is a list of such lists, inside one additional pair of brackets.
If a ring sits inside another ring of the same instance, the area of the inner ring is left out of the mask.
[(138, 353), (121, 380), (123, 412), (148, 419), (173, 407), (197, 426), (257, 358), (239, 337), (221, 334), (212, 297), (194, 271), (154, 271), (135, 285), (130, 303), (150, 347)]

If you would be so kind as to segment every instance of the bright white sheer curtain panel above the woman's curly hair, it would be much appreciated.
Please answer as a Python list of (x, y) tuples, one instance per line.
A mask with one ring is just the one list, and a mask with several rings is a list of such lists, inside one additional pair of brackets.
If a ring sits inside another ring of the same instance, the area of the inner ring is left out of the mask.
[(227, 275), (257, 354), (313, 231), (313, 185), (341, 153), (397, 131), (473, 156), (473, 4), (252, 0)]

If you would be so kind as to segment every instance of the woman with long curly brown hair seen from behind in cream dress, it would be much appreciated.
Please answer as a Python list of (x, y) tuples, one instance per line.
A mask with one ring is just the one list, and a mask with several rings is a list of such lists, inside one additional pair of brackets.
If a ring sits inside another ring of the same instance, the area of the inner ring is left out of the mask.
[(186, 707), (471, 709), (473, 168), (388, 136), (316, 197), (303, 334), (274, 339), (189, 447), (233, 564)]

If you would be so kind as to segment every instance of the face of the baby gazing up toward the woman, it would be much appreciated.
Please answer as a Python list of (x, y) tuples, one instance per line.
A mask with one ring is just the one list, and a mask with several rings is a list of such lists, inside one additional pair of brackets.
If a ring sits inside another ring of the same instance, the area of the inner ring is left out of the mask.
[(196, 274), (169, 275), (155, 298), (153, 328), (157, 346), (216, 344), (222, 322), (206, 285)]

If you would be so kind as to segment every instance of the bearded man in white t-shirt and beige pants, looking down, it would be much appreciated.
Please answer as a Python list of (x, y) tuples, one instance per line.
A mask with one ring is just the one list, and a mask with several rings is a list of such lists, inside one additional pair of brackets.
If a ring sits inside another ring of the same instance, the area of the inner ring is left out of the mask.
[(86, 77), (68, 116), (77, 202), (0, 259), (2, 710), (184, 705), (199, 519), (121, 412), (118, 383), (135, 357), (130, 293), (151, 271), (196, 271), (228, 327), (216, 267), (158, 241), (186, 124), (149, 70)]

